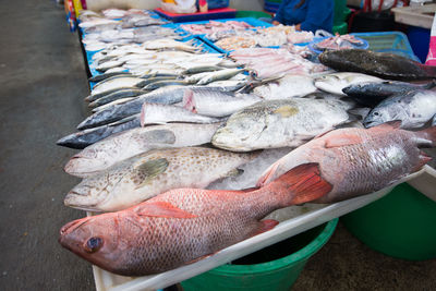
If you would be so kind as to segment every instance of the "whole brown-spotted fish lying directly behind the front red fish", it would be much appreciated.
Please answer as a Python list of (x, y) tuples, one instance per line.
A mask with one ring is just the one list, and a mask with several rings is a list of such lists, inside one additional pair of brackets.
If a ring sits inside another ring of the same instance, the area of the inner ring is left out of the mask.
[(206, 187), (215, 180), (239, 174), (238, 167), (259, 153), (182, 147), (155, 149), (85, 178), (64, 203), (84, 210), (116, 211), (178, 187)]

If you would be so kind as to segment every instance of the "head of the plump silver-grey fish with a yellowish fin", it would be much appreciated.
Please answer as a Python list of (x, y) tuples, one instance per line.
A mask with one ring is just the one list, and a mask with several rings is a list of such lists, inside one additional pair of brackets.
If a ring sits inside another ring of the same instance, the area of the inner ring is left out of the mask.
[(253, 141), (259, 138), (263, 131), (267, 128), (265, 119), (256, 116), (235, 114), (232, 116), (225, 126), (216, 131), (211, 138), (213, 145), (219, 148), (249, 151), (256, 149)]

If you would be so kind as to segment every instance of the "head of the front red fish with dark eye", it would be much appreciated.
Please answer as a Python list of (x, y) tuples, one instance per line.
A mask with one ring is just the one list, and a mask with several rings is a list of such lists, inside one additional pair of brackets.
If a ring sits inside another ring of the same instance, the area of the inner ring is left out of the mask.
[(116, 214), (85, 217), (63, 226), (58, 241), (92, 264), (118, 269), (117, 265), (122, 264), (121, 251), (124, 251), (122, 243), (120, 245), (119, 228), (119, 217)]

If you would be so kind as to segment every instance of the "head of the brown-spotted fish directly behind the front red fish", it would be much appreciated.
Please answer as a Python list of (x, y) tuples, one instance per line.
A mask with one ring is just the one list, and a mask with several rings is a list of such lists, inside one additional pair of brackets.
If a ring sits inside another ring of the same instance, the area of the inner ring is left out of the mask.
[(85, 178), (66, 194), (63, 203), (82, 210), (100, 211), (100, 206), (122, 178), (121, 172), (102, 172)]

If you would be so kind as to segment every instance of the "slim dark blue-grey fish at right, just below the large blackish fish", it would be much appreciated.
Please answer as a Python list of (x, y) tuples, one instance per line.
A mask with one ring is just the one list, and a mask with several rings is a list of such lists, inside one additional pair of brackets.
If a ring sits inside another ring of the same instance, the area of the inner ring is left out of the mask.
[(396, 81), (385, 81), (382, 83), (365, 82), (350, 85), (343, 88), (342, 92), (352, 97), (356, 102), (374, 108), (389, 96), (407, 94), (417, 89), (429, 89), (435, 85), (436, 83), (434, 82), (424, 85)]

